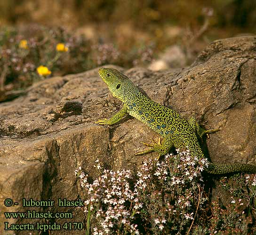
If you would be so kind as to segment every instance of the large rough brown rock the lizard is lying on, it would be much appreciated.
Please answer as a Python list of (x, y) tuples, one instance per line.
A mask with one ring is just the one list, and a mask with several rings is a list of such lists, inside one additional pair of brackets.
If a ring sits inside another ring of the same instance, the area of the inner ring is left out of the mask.
[[(154, 101), (172, 107), (184, 118), (195, 116), (206, 128), (220, 128), (207, 140), (214, 163), (256, 164), (256, 37), (214, 41), (184, 69), (118, 69)], [(134, 156), (144, 149), (139, 141), (147, 142), (157, 136), (136, 119), (126, 118), (112, 127), (93, 123), (98, 118), (111, 117), (120, 106), (99, 78), (97, 69), (47, 79), (32, 86), (26, 95), (0, 103), (1, 234), (4, 221), (43, 222), (4, 218), (2, 211), (28, 210), (22, 207), (22, 198), (80, 198), (74, 175), (80, 165), (95, 177), (96, 158), (117, 170), (136, 169), (143, 159), (154, 155)], [(18, 205), (5, 207), (5, 198), (12, 198)], [(79, 208), (37, 208), (49, 209), (70, 211), (73, 219), (48, 222), (84, 219)]]

